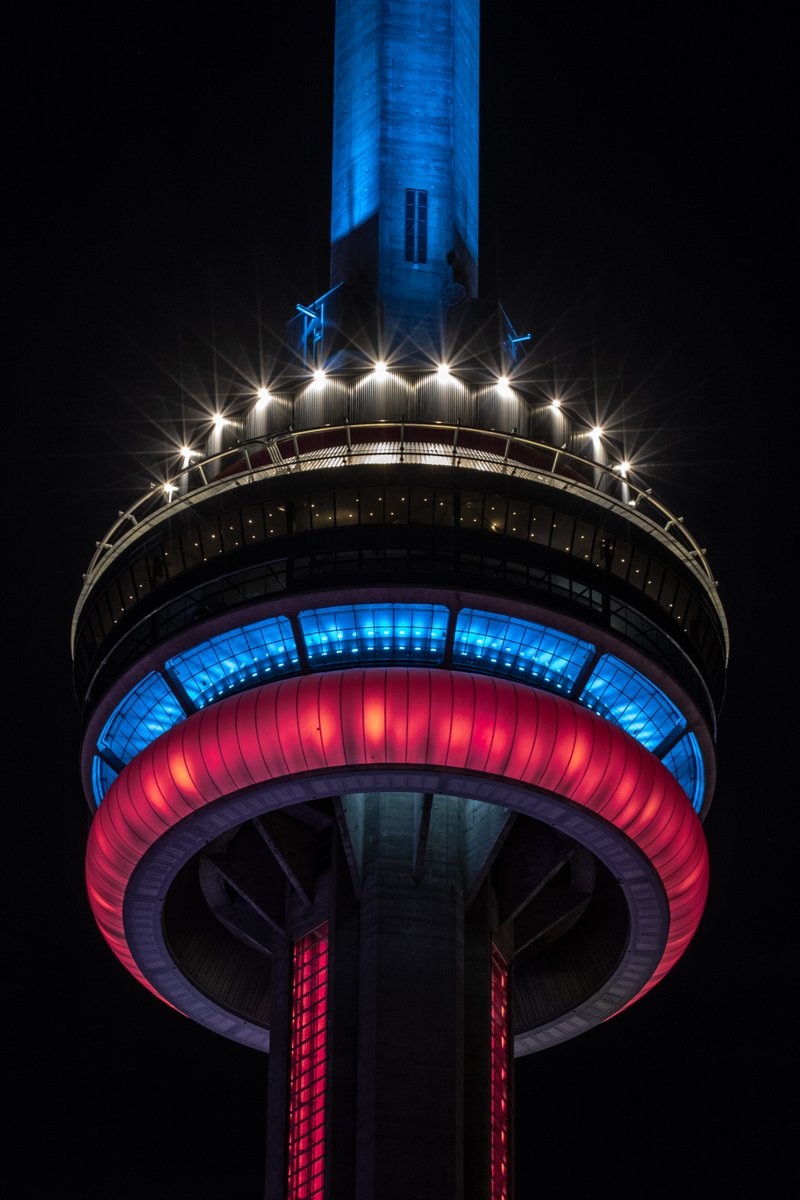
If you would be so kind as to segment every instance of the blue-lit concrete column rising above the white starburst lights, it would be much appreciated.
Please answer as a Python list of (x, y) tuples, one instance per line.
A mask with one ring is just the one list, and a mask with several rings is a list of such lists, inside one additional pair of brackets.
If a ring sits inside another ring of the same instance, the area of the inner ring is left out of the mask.
[(434, 353), (477, 290), (479, 0), (337, 0), (331, 284)]

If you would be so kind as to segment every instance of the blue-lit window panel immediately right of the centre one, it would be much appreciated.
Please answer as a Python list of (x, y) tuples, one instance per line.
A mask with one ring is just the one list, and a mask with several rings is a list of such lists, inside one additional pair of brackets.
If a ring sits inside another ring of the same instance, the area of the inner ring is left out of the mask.
[(493, 674), (535, 679), (570, 691), (594, 646), (547, 625), (516, 617), (462, 608), (456, 622), (455, 666), (476, 666)]

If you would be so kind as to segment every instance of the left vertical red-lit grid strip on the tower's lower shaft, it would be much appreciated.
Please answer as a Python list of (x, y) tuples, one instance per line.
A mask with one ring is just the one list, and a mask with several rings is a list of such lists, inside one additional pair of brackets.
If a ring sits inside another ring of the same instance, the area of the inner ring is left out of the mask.
[(323, 1200), (327, 1064), (327, 924), (294, 944), (287, 1200)]

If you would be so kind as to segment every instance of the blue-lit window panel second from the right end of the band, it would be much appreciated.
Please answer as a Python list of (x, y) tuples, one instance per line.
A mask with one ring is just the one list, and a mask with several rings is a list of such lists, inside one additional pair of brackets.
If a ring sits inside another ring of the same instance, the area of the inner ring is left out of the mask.
[(648, 750), (686, 727), (686, 718), (661, 688), (613, 654), (600, 659), (578, 698)]

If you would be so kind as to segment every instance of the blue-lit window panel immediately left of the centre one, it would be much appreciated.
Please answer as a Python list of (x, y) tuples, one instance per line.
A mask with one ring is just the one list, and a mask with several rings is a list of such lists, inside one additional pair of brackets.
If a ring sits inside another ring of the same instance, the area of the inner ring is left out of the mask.
[(167, 662), (167, 671), (196, 708), (297, 667), (297, 646), (287, 617), (270, 617), (219, 634)]

